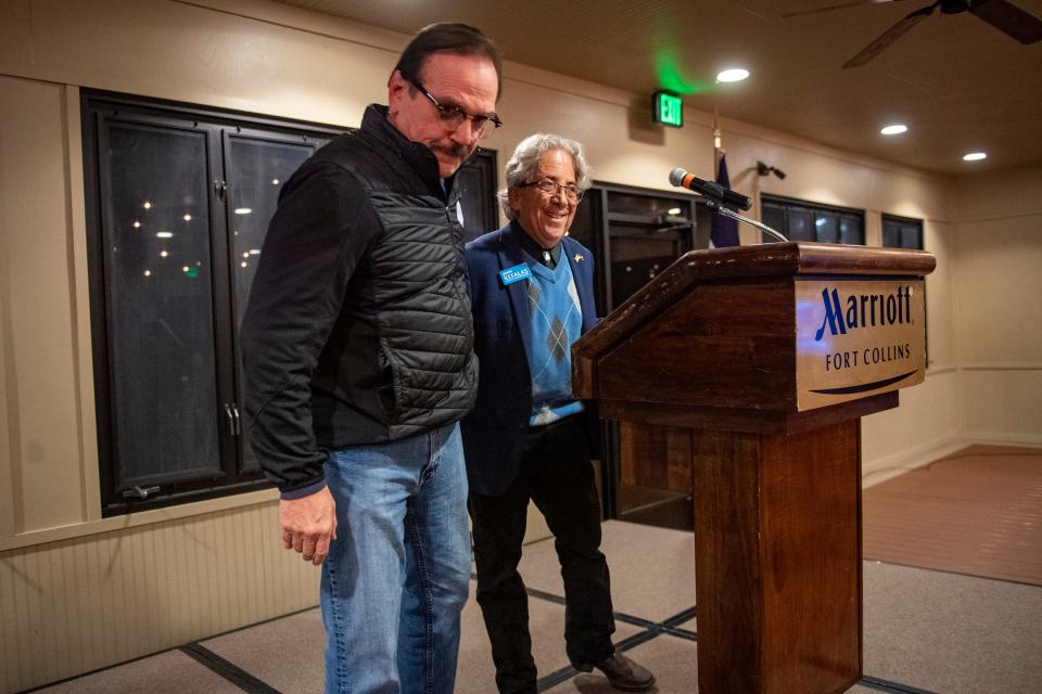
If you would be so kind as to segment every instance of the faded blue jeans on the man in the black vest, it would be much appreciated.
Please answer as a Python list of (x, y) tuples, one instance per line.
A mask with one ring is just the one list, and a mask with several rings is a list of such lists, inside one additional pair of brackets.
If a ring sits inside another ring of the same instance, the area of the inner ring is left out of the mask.
[(459, 425), (330, 452), (327, 694), (452, 694), (470, 581)]

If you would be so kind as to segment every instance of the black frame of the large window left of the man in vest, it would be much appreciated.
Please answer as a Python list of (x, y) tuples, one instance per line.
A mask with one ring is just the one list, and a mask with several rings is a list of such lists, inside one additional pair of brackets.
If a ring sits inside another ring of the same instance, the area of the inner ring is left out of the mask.
[[(223, 403), (241, 401), (238, 394), (238, 326), (234, 324), (234, 296), (230, 261), (228, 209), (221, 200), (226, 190), (218, 183), (226, 179), (230, 166), (226, 140), (230, 132), (243, 131), (263, 134), (269, 141), (304, 138), (315, 150), (344, 130), (332, 126), (262, 117), (233, 111), (217, 111), (180, 102), (148, 99), (102, 90), (84, 89), (80, 94), (84, 133), (84, 195), (87, 217), (88, 296), (90, 303), (90, 335), (94, 374), (94, 412), (98, 435), (99, 481), (103, 517), (156, 509), (190, 501), (201, 501), (269, 487), (259, 471), (244, 472), (243, 436), (229, 430), (223, 417)], [(147, 477), (124, 478), (120, 475), (116, 446), (116, 394), (113, 377), (117, 365), (113, 358), (115, 339), (110, 304), (111, 267), (106, 267), (106, 234), (103, 205), (107, 203), (105, 163), (100, 158), (105, 144), (106, 123), (141, 125), (144, 127), (190, 130), (204, 133), (206, 208), (208, 210), (208, 255), (212, 264), (211, 301), (213, 321), (213, 360), (215, 408), (217, 426), (217, 468), (214, 475), (169, 472)], [(226, 197), (226, 196), (225, 196)], [(240, 408), (241, 411), (241, 408)], [(241, 416), (241, 415), (240, 415)], [(145, 481), (147, 480), (147, 481)], [(135, 483), (158, 485), (158, 493), (143, 498), (127, 498), (125, 491)]]

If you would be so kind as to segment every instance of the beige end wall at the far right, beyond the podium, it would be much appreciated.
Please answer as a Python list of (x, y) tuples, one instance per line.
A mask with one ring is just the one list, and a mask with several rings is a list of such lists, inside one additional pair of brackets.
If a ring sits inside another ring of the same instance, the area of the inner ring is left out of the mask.
[(956, 183), (964, 435), (1042, 445), (1042, 169)]

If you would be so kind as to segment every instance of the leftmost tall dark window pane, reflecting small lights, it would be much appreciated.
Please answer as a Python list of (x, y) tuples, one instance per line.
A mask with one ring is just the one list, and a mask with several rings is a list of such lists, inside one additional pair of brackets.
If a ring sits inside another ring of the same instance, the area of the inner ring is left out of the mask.
[(110, 121), (104, 267), (117, 488), (220, 472), (206, 133)]

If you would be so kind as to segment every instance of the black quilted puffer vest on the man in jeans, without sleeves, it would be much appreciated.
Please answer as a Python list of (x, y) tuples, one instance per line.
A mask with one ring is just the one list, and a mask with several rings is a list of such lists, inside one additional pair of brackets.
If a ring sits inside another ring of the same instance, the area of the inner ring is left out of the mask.
[(460, 420), (474, 403), (478, 361), (458, 194), (443, 192), (433, 155), (374, 106), (360, 130), (314, 158), (363, 185), (381, 227), (313, 375), (318, 444), (395, 440)]

